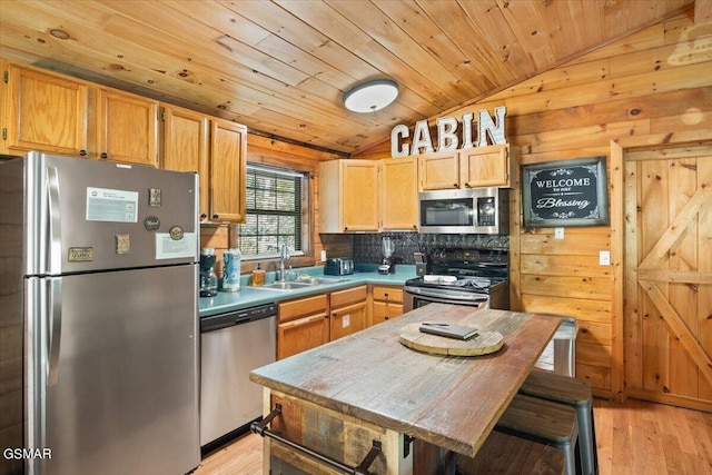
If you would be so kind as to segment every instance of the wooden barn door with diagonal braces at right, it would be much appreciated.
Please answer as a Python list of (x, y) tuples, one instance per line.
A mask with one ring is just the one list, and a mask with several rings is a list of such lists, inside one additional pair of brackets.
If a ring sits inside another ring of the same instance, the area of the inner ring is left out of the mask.
[(712, 410), (712, 147), (624, 166), (626, 393)]

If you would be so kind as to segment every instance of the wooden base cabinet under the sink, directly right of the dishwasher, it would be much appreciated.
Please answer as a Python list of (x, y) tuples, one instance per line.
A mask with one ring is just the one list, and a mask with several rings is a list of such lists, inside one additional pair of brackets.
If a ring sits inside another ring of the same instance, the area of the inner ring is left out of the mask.
[(329, 340), (327, 294), (277, 304), (277, 359)]

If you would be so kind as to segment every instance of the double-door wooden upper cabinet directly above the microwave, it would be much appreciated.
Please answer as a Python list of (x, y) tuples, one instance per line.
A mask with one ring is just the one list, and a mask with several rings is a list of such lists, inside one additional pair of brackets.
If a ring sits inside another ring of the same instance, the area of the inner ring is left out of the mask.
[(512, 186), (510, 145), (421, 155), (421, 190)]

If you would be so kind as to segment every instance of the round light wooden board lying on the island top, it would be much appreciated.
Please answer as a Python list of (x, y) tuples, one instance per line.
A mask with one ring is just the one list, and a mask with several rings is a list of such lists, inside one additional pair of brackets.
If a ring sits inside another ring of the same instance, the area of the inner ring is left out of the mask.
[(504, 337), (497, 331), (483, 331), (474, 338), (462, 340), (425, 334), (419, 328), (419, 323), (404, 326), (398, 331), (398, 342), (408, 348), (442, 356), (488, 355), (504, 345)]

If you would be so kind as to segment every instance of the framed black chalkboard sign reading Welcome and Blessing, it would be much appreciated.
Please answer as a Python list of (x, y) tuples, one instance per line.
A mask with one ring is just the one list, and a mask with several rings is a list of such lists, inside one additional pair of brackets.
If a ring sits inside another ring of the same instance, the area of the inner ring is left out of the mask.
[(605, 157), (522, 166), (525, 227), (609, 224)]

